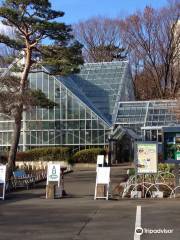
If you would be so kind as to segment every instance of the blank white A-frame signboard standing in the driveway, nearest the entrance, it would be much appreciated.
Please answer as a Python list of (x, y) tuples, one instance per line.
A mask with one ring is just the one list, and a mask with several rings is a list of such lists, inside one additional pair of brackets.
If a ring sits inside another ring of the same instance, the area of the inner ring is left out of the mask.
[(109, 184), (110, 184), (110, 167), (98, 167), (96, 174), (94, 199), (104, 198), (108, 200)]

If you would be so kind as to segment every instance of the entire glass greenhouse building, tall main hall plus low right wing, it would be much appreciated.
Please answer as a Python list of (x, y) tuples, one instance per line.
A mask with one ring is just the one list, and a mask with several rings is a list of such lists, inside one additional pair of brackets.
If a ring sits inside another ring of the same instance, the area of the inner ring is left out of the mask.
[[(20, 150), (106, 147), (111, 139), (124, 136), (161, 142), (162, 127), (179, 124), (175, 100), (135, 101), (128, 61), (86, 63), (78, 74), (66, 77), (53, 76), (42, 67), (29, 75), (29, 84), (57, 106), (23, 113)], [(0, 114), (1, 150), (11, 144), (12, 127), (13, 121)]]

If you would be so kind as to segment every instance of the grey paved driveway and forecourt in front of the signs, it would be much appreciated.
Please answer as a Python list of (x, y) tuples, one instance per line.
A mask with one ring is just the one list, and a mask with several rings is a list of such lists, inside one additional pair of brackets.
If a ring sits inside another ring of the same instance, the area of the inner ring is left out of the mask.
[[(121, 174), (112, 169), (114, 186)], [(66, 198), (45, 199), (45, 183), (7, 195), (0, 200), (0, 240), (180, 239), (180, 199), (94, 200), (94, 187), (94, 171), (75, 171), (65, 176)], [(137, 206), (149, 231), (142, 236), (134, 234)]]

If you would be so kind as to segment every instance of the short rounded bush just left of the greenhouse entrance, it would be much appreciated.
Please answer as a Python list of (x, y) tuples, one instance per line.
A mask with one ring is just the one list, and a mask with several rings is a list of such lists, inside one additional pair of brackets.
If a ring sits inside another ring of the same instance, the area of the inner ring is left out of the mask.
[(106, 151), (102, 148), (90, 148), (76, 152), (72, 156), (74, 163), (96, 163), (97, 155), (105, 155)]

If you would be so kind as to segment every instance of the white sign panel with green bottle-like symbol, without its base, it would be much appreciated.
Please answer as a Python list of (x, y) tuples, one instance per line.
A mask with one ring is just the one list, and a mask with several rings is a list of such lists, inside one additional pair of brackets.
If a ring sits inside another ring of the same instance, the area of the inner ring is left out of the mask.
[(59, 163), (48, 163), (47, 171), (47, 184), (48, 182), (58, 182), (60, 184), (60, 164)]

